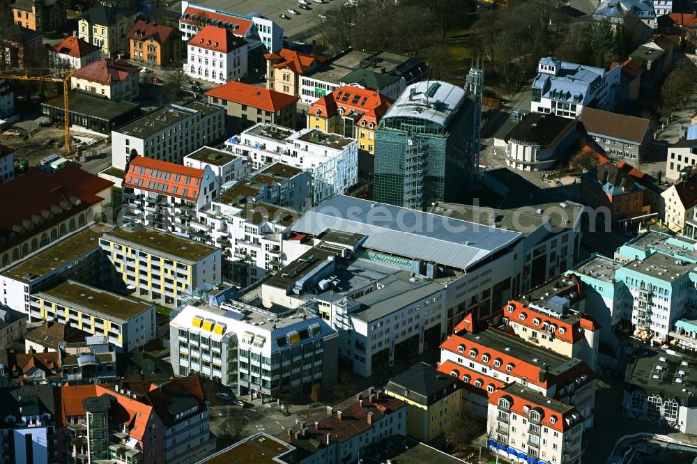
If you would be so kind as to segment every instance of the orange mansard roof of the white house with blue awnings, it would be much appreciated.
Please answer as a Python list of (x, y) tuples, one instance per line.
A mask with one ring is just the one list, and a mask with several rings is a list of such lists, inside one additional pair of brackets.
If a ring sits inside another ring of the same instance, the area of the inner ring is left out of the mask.
[[(574, 414), (579, 418), (581, 417), (581, 414), (575, 408), (572, 408), (572, 406), (548, 399), (542, 396), (542, 394), (531, 394), (533, 392), (530, 392), (530, 389), (524, 389), (528, 394), (522, 396), (521, 394), (516, 394), (516, 389), (520, 391), (523, 387), (519, 387), (519, 385), (510, 385), (506, 389), (493, 392), (493, 394), (489, 396), (489, 404), (498, 405), (498, 400), (505, 398), (509, 401), (510, 411), (523, 417), (528, 417), (528, 414), (524, 412), (525, 406), (528, 406), (530, 410), (535, 408), (542, 413), (542, 421), (540, 424), (560, 432), (567, 431), (569, 428), (579, 424), (577, 421), (567, 422), (567, 419), (571, 419)], [(539, 401), (537, 401), (537, 396), (539, 396)], [(551, 405), (553, 405), (556, 410), (552, 410)], [(559, 410), (563, 412), (558, 412)], [(551, 421), (552, 417), (556, 419), (554, 424), (552, 424)]]

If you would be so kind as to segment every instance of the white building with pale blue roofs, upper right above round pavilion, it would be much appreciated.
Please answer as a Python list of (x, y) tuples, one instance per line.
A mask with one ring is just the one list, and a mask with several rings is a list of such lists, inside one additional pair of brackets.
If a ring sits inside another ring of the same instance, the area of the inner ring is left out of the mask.
[(576, 118), (588, 106), (612, 111), (621, 71), (621, 65), (606, 71), (549, 56), (542, 58), (533, 80), (531, 109), (565, 118)]

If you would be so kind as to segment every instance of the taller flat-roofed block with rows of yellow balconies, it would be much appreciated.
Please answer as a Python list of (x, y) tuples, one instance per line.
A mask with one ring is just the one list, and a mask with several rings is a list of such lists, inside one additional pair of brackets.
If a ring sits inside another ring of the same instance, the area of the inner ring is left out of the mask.
[(138, 297), (178, 306), (204, 284), (221, 281), (220, 249), (143, 226), (122, 226), (102, 235), (109, 265), (105, 278)]

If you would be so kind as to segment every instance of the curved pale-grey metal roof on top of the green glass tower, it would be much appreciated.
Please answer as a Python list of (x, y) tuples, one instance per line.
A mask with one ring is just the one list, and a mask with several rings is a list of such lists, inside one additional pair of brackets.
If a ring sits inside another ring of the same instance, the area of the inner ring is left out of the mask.
[(464, 101), (461, 87), (440, 81), (417, 82), (399, 95), (383, 119), (408, 116), (445, 126)]

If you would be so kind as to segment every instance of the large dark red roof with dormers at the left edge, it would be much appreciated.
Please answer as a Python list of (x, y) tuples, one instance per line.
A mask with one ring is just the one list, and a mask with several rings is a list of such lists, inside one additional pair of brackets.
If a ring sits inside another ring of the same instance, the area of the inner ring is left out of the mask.
[(37, 169), (0, 185), (0, 198), (6, 199), (0, 214), (0, 237), (6, 241), (0, 252), (100, 203), (104, 199), (97, 194), (112, 185), (77, 166), (54, 173)]

